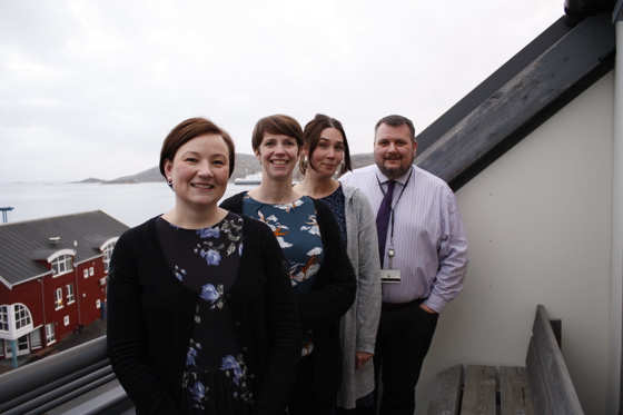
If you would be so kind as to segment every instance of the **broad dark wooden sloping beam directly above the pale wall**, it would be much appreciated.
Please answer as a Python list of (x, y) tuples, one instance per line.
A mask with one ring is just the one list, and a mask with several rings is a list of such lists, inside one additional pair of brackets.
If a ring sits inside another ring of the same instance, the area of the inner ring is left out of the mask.
[(592, 11), (561, 18), (422, 131), (416, 165), (457, 190), (611, 71), (612, 13)]

